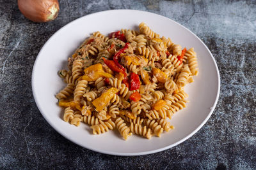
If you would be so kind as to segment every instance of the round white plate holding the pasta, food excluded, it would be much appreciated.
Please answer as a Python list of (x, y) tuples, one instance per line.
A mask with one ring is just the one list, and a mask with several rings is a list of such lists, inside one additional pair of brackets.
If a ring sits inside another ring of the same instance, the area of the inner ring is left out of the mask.
[[(103, 34), (122, 28), (138, 29), (145, 22), (161, 36), (170, 37), (174, 43), (186, 48), (195, 48), (198, 54), (199, 74), (195, 82), (186, 86), (189, 94), (188, 107), (173, 116), (170, 121), (173, 131), (163, 133), (161, 138), (150, 140), (131, 136), (124, 141), (118, 132), (93, 135), (90, 127), (79, 127), (63, 121), (63, 109), (58, 106), (55, 95), (65, 87), (57, 75), (58, 70), (67, 67), (67, 59), (77, 46), (92, 32)], [(136, 10), (111, 10), (93, 13), (78, 18), (57, 31), (42, 47), (35, 61), (32, 75), (32, 89), (36, 104), (44, 118), (62, 136), (77, 145), (111, 155), (144, 155), (172, 148), (198, 131), (209, 119), (220, 93), (220, 75), (211, 52), (205, 44), (182, 25), (169, 18)]]

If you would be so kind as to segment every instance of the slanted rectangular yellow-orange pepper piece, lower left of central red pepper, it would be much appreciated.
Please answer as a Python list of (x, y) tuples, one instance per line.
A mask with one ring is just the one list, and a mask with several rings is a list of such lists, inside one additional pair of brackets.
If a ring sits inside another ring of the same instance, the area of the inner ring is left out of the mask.
[(97, 111), (102, 111), (109, 104), (109, 101), (115, 96), (117, 92), (118, 89), (111, 87), (92, 102), (93, 106), (95, 106)]

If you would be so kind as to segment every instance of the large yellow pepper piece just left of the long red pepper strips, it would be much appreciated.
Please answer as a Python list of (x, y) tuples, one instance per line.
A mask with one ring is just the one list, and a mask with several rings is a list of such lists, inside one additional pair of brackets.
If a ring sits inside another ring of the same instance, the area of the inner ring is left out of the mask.
[(102, 65), (100, 63), (99, 64), (94, 64), (94, 65), (84, 69), (83, 80), (95, 81), (100, 77), (104, 77), (104, 78), (111, 78), (112, 77), (111, 74), (106, 73), (102, 69)]

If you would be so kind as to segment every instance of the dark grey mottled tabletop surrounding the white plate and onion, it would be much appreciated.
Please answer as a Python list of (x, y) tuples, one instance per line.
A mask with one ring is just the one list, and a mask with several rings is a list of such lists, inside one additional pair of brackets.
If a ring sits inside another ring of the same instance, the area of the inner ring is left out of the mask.
[[(46, 24), (30, 22), (16, 1), (0, 0), (0, 169), (255, 169), (255, 1), (60, 1)], [(103, 10), (151, 11), (188, 27), (209, 47), (221, 76), (209, 121), (184, 143), (163, 152), (118, 157), (63, 138), (42, 117), (31, 90), (36, 55), (68, 22)]]

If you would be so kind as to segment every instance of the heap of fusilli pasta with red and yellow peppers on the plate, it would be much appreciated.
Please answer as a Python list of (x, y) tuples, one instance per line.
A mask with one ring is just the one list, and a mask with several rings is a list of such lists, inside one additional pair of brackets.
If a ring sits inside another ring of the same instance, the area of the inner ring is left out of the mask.
[(84, 122), (92, 134), (117, 129), (125, 140), (171, 131), (168, 118), (186, 108), (184, 87), (198, 75), (194, 48), (160, 37), (143, 22), (137, 31), (93, 32), (67, 65), (58, 72), (67, 85), (56, 94), (63, 120)]

